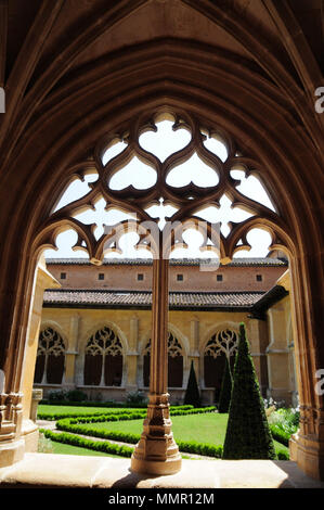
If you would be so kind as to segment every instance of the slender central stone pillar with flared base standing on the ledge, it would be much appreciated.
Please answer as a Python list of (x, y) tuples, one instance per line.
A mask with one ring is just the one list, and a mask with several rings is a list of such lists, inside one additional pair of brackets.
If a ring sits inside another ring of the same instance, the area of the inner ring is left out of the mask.
[(153, 304), (150, 403), (143, 433), (131, 458), (131, 469), (140, 473), (172, 474), (181, 469), (181, 455), (171, 432), (168, 388), (168, 271), (163, 258), (153, 260)]

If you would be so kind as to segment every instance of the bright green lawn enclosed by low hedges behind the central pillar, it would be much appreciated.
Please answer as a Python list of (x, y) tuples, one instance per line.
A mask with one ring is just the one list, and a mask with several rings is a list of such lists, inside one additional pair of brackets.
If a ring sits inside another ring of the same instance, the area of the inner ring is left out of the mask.
[[(176, 442), (195, 441), (197, 443), (222, 445), (225, 438), (228, 417), (228, 415), (218, 415), (216, 412), (171, 417), (174, 439)], [(141, 434), (143, 420), (87, 423), (87, 428)], [(276, 450), (288, 451), (286, 446), (276, 441), (274, 441), (274, 446)]]

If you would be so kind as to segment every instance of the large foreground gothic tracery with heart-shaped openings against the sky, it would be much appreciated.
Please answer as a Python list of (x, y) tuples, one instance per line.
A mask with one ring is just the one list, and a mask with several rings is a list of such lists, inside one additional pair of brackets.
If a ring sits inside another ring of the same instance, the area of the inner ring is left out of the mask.
[(199, 254), (216, 258), (248, 251), (252, 238), (259, 243), (262, 235), (267, 253), (284, 246), (286, 224), (262, 184), (262, 165), (208, 119), (189, 112), (143, 113), (89, 151), (67, 173), (69, 182), (53, 204), (40, 244), (55, 246), (68, 225), (73, 250), (87, 250), (99, 264), (120, 253), (121, 237), (134, 231), (134, 251), (153, 250), (155, 224), (167, 232), (172, 225), (174, 252), (193, 230), (200, 235)]

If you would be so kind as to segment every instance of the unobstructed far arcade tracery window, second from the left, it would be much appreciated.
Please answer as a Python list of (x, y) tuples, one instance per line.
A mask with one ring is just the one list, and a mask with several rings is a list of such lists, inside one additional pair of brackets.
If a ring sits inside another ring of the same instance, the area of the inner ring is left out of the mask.
[(105, 327), (88, 341), (85, 353), (85, 384), (120, 386), (122, 345), (116, 333)]

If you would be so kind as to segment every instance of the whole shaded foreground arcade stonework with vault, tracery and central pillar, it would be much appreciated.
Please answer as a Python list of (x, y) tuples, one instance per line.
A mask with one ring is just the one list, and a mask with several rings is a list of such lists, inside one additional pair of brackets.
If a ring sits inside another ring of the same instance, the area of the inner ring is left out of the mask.
[[(197, 213), (207, 205), (219, 208), (228, 194), (249, 217), (233, 221), (226, 234), (220, 231), (215, 246), (220, 259), (230, 262), (249, 248), (252, 227), (271, 232), (271, 248), (289, 257), (301, 412), (294, 458), (323, 480), (324, 406), (316, 373), (324, 367), (324, 116), (314, 107), (314, 91), (323, 84), (323, 24), (309, 22), (323, 15), (323, 8), (317, 2), (295, 8), (290, 0), (262, 0), (255, 9), (241, 0), (122, 0), (108, 7), (96, 0), (77, 10), (73, 1), (30, 0), (24, 15), (18, 3), (0, 3), (0, 86), (7, 100), (0, 124), (0, 466), (21, 460), (25, 451), (23, 386), (28, 342), (38, 337), (30, 317), (36, 301), (41, 303), (35, 275), (43, 251), (55, 247), (66, 227), (75, 229), (75, 247), (86, 250), (93, 264), (102, 263), (105, 250), (118, 251), (125, 222), (96, 239), (95, 228), (75, 217), (99, 195), (108, 207), (137, 214), (127, 221), (131, 230), (156, 220), (146, 208), (160, 199), (177, 209), (172, 221), (191, 220), (199, 228)], [(160, 118), (171, 120), (174, 132), (190, 133), (187, 144), (165, 161), (139, 142), (141, 135), (156, 132)], [(223, 140), (226, 161), (206, 148), (206, 138)], [(124, 151), (103, 162), (116, 141), (125, 142)], [(172, 170), (194, 154), (216, 181), (170, 184)], [(132, 157), (153, 169), (155, 181), (145, 190), (133, 180), (121, 189), (111, 186)], [(235, 164), (260, 178), (275, 211), (237, 190)], [(72, 180), (93, 170), (99, 177), (89, 193), (54, 211)], [(210, 224), (206, 248), (212, 244)], [(150, 404), (131, 468), (171, 473), (181, 469), (181, 458), (167, 394), (170, 245), (161, 230), (155, 238), (139, 232), (139, 246), (155, 253), (154, 298)], [(177, 229), (168, 239), (171, 247), (183, 242)]]

